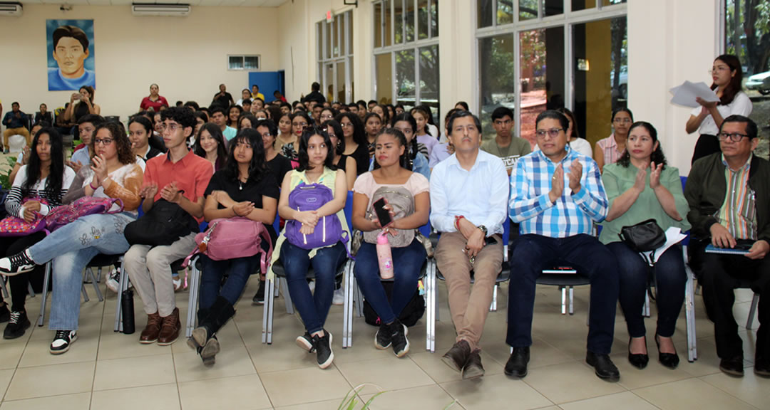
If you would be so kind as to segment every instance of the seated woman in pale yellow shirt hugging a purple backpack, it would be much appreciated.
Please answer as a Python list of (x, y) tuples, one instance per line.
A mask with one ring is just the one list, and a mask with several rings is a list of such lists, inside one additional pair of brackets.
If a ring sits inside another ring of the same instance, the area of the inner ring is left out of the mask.
[[(273, 259), (283, 262), (286, 282), (296, 310), (305, 325), (306, 332), (296, 338), (296, 344), (305, 352), (316, 352), (320, 368), (327, 368), (334, 360), (332, 352), (332, 334), (323, 328), (326, 315), (332, 305), (335, 275), (346, 260), (345, 245), (338, 241), (334, 245), (320, 248), (306, 248), (302, 241), (293, 243), (286, 237), (286, 232), (296, 223), (300, 223), (303, 237), (313, 235), (316, 229), (322, 229), (326, 223), (333, 223), (330, 215), (336, 215), (341, 229), (350, 232), (343, 213), (347, 197), (345, 173), (336, 170), (333, 165), (334, 152), (330, 149), (329, 135), (321, 128), (306, 128), (300, 138), (300, 167), (286, 174), (281, 184), (278, 213), (286, 219), (286, 228), (276, 243)], [(298, 186), (313, 185), (321, 192), (329, 192), (333, 197), (314, 211), (300, 211), (290, 206), (290, 193)], [(294, 232), (294, 231), (293, 231)], [(294, 237), (294, 235), (292, 236)], [(304, 247), (303, 247), (304, 246)], [(310, 292), (307, 272), (310, 266), (315, 272), (315, 291)]]

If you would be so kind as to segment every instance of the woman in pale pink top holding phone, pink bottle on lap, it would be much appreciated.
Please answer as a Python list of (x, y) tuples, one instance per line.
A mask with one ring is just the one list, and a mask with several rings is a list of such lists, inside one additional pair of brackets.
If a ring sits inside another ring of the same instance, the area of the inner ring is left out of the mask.
[[(393, 345), (393, 353), (403, 357), (409, 352), (407, 326), (399, 315), (414, 297), (417, 278), (425, 262), (422, 243), (415, 238), (414, 230), (428, 222), (430, 211), (429, 182), (408, 167), (410, 158), (407, 138), (395, 128), (384, 129), (375, 140), (374, 170), (361, 175), (353, 187), (353, 228), (364, 234), (364, 242), (356, 254), (353, 267), (363, 296), (380, 317), (380, 329), (374, 338), (374, 346), (386, 349)], [(395, 194), (381, 192), (382, 188)], [(395, 196), (394, 196), (395, 195)], [(393, 214), (393, 223), (385, 228), (380, 225), (372, 203), (377, 198), (390, 198), (386, 205)], [(408, 198), (408, 202), (403, 202)], [(404, 205), (406, 209), (393, 205)], [(390, 235), (393, 258), (393, 295), (388, 300), (380, 283), (377, 260), (377, 235)]]

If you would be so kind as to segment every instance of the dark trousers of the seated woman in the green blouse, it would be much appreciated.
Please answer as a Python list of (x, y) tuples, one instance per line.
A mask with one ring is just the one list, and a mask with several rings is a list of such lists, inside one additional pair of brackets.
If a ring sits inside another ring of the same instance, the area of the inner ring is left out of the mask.
[[(647, 293), (649, 268), (647, 262), (637, 252), (628, 248), (623, 242), (612, 242), (607, 245), (610, 252), (618, 258), (620, 273), (620, 302), (623, 315), (628, 326), (628, 335), (641, 338), (647, 334), (644, 328), (644, 317), (641, 309), (644, 306), (644, 295)], [(658, 297), (658, 329), (656, 334), (665, 338), (674, 335), (676, 319), (685, 302), (685, 259), (682, 257), (681, 245), (674, 245), (663, 252), (655, 263), (655, 291)], [(650, 278), (651, 279), (651, 278)]]

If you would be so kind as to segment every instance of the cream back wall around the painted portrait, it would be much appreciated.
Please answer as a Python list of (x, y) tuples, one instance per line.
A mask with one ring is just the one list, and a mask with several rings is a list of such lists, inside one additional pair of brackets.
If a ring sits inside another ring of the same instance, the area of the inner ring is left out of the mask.
[(20, 18), (0, 17), (0, 98), (35, 112), (41, 102), (52, 108), (69, 102), (72, 92), (49, 92), (46, 76), (45, 20), (94, 20), (96, 93), (102, 115), (126, 119), (139, 109), (157, 83), (174, 104), (195, 100), (209, 105), (225, 83), (236, 100), (249, 87), (247, 72), (227, 70), (228, 54), (259, 54), (262, 70), (281, 68), (275, 41), (278, 8), (193, 7), (188, 17), (137, 17), (129, 6), (25, 5)]

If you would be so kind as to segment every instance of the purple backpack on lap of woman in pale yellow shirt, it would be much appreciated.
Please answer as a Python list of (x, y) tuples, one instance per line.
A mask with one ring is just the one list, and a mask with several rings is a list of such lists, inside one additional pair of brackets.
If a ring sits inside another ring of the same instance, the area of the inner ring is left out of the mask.
[[(326, 185), (300, 182), (289, 193), (289, 206), (297, 211), (315, 211), (326, 202), (334, 199), (332, 190)], [(303, 249), (323, 248), (334, 245), (336, 242), (347, 242), (347, 232), (343, 232), (342, 223), (336, 214), (326, 215), (318, 220), (316, 228), (310, 235), (300, 232), (302, 223), (299, 221), (286, 221), (286, 230), (283, 235), (292, 245)]]

